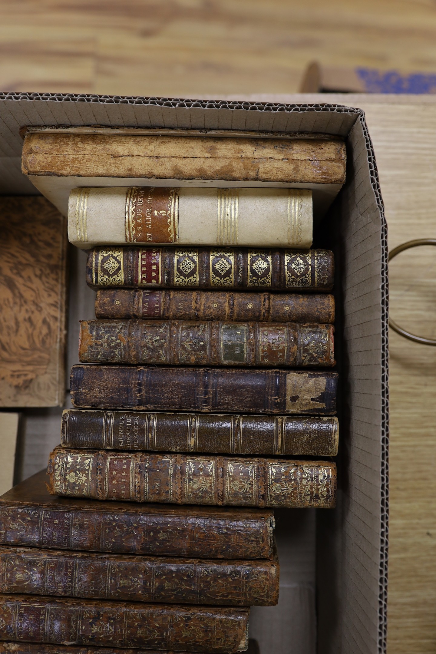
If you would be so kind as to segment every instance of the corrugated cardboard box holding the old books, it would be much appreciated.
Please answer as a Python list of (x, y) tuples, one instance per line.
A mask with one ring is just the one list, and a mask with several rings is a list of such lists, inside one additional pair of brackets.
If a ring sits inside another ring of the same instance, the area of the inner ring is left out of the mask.
[[(277, 608), (252, 611), (252, 635), (260, 642), (261, 654), (312, 654), (316, 649), (322, 654), (384, 652), (387, 245), (377, 168), (363, 112), (340, 105), (0, 94), (3, 194), (35, 194), (20, 172), (19, 129), (43, 125), (201, 129), (203, 133), (222, 129), (263, 135), (314, 132), (346, 139), (347, 181), (323, 221), (323, 243), (331, 243), (337, 261), (339, 502), (333, 511), (277, 512), (282, 600)], [(297, 551), (301, 564), (296, 565)], [(304, 566), (315, 557), (316, 577), (315, 566), (305, 576)]]

